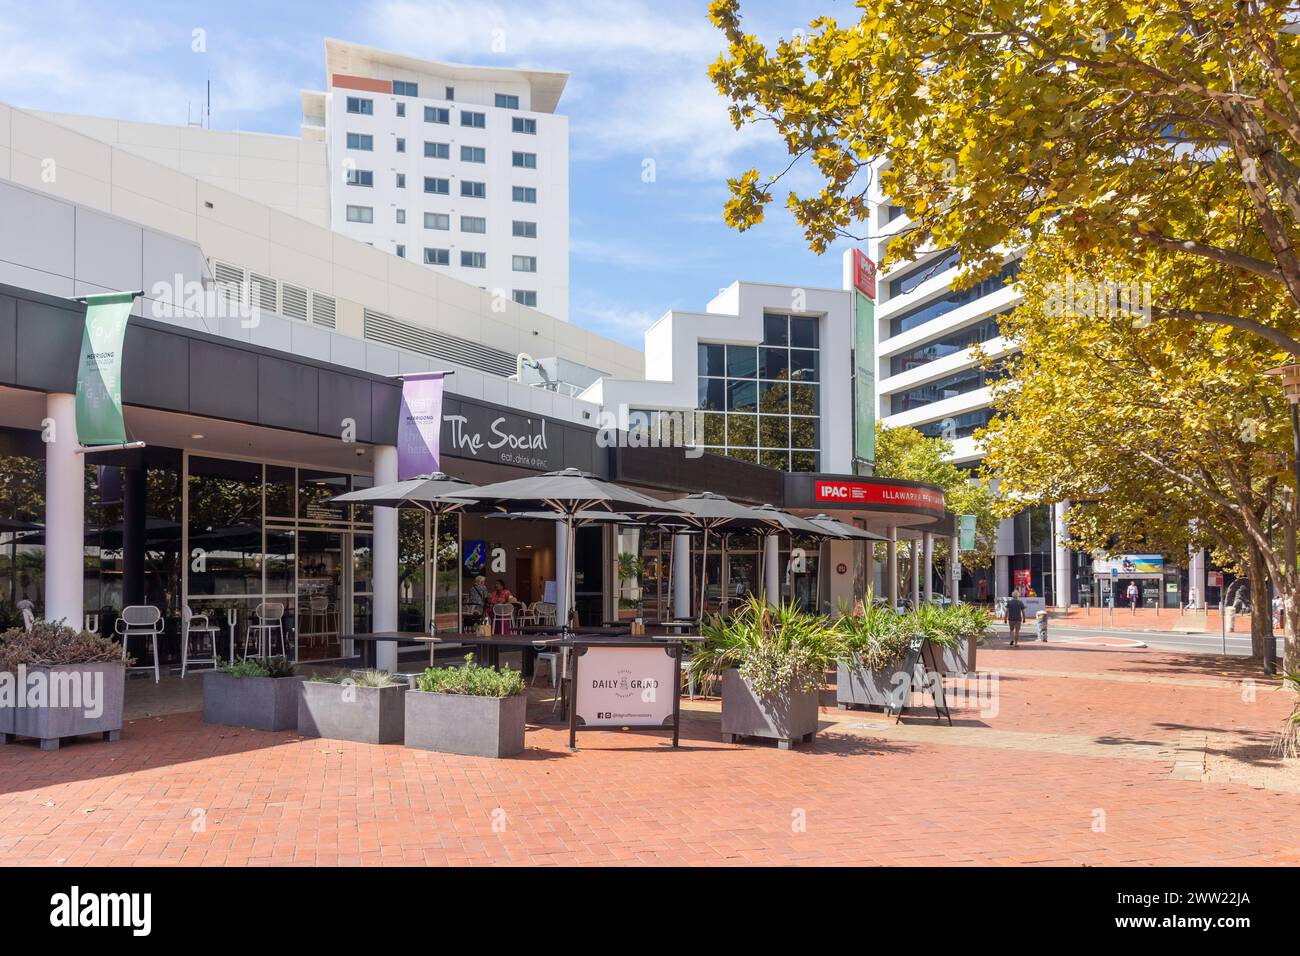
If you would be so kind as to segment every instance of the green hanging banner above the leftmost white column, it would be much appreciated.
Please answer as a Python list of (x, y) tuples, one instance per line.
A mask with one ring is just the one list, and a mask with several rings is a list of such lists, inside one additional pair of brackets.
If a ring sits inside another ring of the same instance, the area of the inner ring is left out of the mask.
[(122, 339), (136, 293), (86, 297), (77, 365), (77, 437), (82, 445), (122, 445)]

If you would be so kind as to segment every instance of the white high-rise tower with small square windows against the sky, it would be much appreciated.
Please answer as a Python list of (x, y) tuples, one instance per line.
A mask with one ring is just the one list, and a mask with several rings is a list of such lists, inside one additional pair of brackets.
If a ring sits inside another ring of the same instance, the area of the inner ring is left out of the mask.
[(568, 319), (567, 73), (325, 40), (303, 139), (326, 146), (330, 228)]

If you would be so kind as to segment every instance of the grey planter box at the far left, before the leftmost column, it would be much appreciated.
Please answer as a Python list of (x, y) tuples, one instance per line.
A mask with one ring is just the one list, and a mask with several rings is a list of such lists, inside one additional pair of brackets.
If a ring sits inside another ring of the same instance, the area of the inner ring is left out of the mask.
[(0, 743), (16, 736), (35, 737), (42, 750), (57, 750), (62, 737), (100, 734), (104, 740), (117, 740), (121, 736), (126, 692), (126, 667), (121, 661), (34, 666), (27, 667), (26, 675), (29, 688), (32, 678), (42, 675), (47, 705), (27, 706), (20, 698), (20, 706), (0, 710)]

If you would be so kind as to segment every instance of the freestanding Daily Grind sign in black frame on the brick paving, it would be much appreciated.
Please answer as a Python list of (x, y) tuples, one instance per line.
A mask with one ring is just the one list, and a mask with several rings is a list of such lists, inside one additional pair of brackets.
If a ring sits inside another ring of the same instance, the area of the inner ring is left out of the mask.
[(672, 728), (677, 745), (681, 644), (638, 639), (573, 641), (569, 747), (577, 731), (601, 727)]

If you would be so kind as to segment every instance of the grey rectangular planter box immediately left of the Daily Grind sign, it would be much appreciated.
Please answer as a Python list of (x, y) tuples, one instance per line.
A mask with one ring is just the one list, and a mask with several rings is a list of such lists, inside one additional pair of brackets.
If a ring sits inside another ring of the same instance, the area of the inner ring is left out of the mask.
[(471, 757), (512, 757), (524, 750), (528, 695), (471, 697), (406, 693), (406, 745)]

